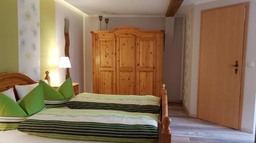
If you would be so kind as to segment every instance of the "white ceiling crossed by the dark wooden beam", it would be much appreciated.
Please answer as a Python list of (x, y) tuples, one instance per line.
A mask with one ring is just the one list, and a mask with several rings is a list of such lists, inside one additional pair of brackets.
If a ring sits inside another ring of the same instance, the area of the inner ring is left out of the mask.
[[(65, 0), (88, 15), (164, 16), (170, 0)], [(217, 0), (184, 0), (177, 16), (183, 16), (194, 4)]]

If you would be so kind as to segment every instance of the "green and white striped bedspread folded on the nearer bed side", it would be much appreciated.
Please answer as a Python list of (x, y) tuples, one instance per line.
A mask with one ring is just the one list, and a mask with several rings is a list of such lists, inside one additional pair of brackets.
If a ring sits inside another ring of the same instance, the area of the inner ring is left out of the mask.
[(19, 131), (59, 139), (157, 142), (158, 115), (114, 110), (57, 109), (37, 113)]

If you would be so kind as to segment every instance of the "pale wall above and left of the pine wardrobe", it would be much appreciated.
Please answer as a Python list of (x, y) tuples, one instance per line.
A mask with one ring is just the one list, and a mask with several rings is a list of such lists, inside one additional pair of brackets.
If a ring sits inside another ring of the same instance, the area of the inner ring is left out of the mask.
[[(170, 18), (172, 19), (172, 18)], [(172, 40), (173, 22), (170, 20), (169, 27), (166, 33), (170, 33)], [(92, 36), (90, 31), (99, 31), (98, 17), (86, 17), (86, 92), (93, 92), (93, 73), (92, 73)], [(119, 26), (135, 26), (142, 30), (165, 30), (165, 17), (110, 17), (110, 23), (108, 24), (108, 30)], [(102, 20), (101, 30), (105, 30), (105, 23)], [(171, 32), (168, 32), (171, 31)], [(164, 53), (166, 54), (166, 53)], [(164, 55), (166, 56), (166, 55)], [(168, 62), (168, 61), (167, 61)], [(168, 85), (167, 85), (168, 86)]]

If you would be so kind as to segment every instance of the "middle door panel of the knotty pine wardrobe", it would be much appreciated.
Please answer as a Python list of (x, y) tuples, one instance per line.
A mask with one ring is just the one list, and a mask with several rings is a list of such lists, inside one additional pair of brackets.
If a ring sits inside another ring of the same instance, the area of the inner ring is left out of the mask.
[(136, 87), (136, 36), (123, 34), (117, 36), (117, 94), (135, 95)]

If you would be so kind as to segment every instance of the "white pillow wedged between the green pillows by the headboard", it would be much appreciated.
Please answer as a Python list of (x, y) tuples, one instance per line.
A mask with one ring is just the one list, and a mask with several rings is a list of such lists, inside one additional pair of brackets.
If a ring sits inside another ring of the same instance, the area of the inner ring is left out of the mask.
[[(44, 80), (48, 84), (48, 80)], [(22, 99), (25, 97), (29, 92), (31, 92), (35, 87), (37, 87), (39, 83), (28, 84), (28, 85), (15, 85), (15, 89), (18, 94), (18, 98)]]

